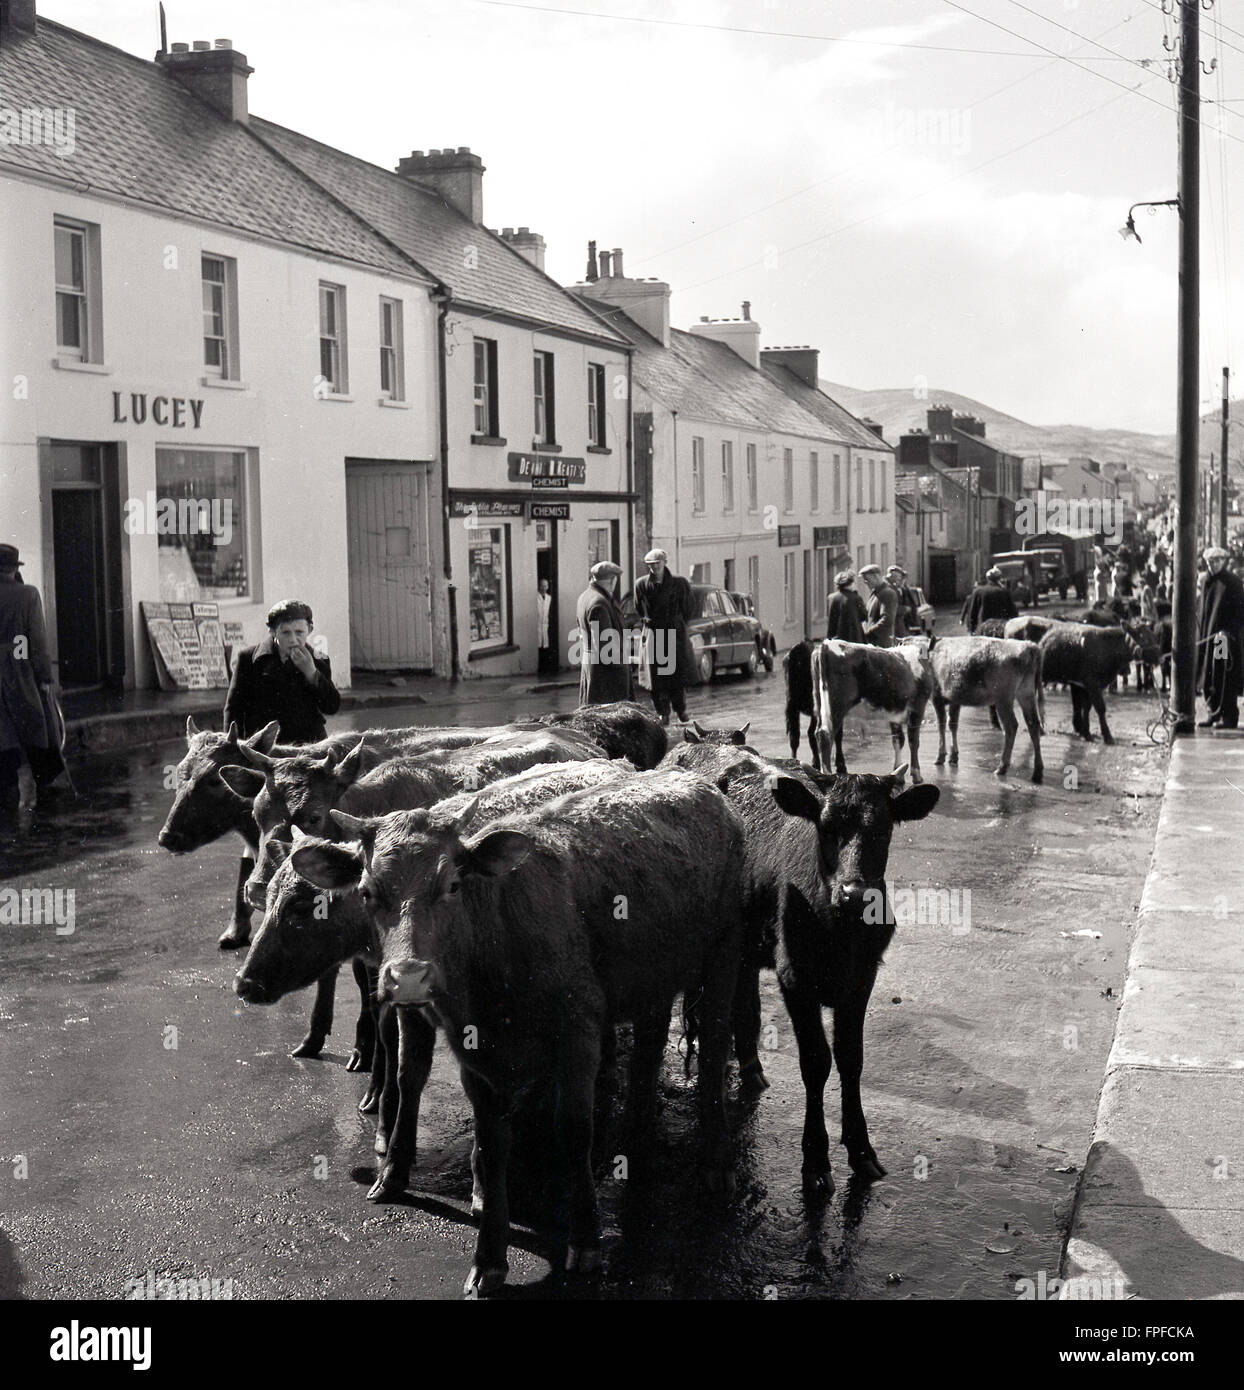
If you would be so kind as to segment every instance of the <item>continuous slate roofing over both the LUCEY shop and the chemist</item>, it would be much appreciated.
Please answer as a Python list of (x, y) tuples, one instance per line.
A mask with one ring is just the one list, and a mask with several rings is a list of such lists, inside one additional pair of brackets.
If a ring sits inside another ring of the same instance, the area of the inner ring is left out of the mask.
[[(40, 17), (6, 35), (0, 100), (75, 113), (72, 156), (0, 146), (0, 170), (40, 175), (161, 211), (271, 238), (316, 254), (421, 281), (456, 303), (568, 329), (616, 335), (543, 271), (438, 195), (250, 117), (227, 121), (158, 64)], [(464, 267), (463, 250), (477, 264)]]

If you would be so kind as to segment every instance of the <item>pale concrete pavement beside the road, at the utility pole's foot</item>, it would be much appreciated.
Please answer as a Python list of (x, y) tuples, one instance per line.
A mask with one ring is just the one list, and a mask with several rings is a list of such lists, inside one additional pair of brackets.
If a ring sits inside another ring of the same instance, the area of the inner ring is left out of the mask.
[(1062, 1295), (1244, 1298), (1244, 738), (1176, 741)]

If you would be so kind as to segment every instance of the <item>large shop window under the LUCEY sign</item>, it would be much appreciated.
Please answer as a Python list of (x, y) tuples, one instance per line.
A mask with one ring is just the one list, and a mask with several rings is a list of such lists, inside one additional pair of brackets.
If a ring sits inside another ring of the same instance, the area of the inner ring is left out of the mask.
[(222, 449), (157, 449), (154, 531), (164, 602), (252, 596), (246, 455)]

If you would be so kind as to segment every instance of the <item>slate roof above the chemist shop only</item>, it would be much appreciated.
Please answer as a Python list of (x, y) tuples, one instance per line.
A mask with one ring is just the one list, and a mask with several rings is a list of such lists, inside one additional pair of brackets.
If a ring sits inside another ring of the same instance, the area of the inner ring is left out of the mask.
[[(254, 133), (364, 217), (449, 286), (456, 304), (624, 343), (552, 277), (443, 199), (377, 164), (271, 121)], [(466, 254), (467, 249), (474, 256)]]

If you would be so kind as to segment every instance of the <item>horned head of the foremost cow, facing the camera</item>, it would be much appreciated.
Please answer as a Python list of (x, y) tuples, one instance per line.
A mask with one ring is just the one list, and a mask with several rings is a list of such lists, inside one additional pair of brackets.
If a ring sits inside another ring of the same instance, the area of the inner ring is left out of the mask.
[(443, 959), (461, 930), (460, 895), (471, 880), (516, 869), (532, 841), (517, 830), (468, 835), (478, 798), (455, 815), (393, 812), (356, 819), (334, 812), (349, 844), (296, 845), (293, 867), (329, 892), (357, 888), (384, 938), (381, 997), (435, 1004), (443, 994)]

